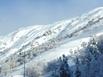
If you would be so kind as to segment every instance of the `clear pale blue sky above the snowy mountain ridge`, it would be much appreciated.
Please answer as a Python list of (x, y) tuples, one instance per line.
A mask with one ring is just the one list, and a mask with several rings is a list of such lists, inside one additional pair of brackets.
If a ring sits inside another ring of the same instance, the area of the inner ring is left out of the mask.
[(102, 6), (103, 0), (0, 0), (0, 35), (67, 20)]

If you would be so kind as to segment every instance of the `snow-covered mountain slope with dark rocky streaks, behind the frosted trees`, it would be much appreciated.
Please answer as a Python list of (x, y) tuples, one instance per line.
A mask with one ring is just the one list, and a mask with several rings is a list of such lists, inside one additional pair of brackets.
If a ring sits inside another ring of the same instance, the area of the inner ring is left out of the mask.
[(82, 42), (102, 33), (103, 7), (69, 20), (20, 28), (0, 37), (0, 66), (8, 75), (20, 74), (25, 57), (26, 66), (33, 63), (42, 68), (62, 54), (71, 55), (71, 49), (80, 48)]

